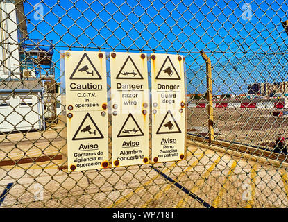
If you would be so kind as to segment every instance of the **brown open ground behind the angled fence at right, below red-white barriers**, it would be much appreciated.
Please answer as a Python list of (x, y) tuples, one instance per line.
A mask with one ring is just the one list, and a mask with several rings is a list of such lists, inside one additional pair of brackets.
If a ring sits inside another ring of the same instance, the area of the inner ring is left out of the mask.
[[(273, 148), (278, 135), (288, 137), (288, 117), (274, 117), (273, 109), (214, 108), (215, 139)], [(194, 134), (207, 132), (207, 108), (189, 108), (188, 125)]]

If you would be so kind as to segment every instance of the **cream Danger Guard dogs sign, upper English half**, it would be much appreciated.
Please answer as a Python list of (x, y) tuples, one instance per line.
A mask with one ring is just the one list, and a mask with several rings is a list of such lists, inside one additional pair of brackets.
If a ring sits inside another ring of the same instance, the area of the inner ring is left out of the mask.
[(183, 56), (151, 54), (151, 93), (154, 108), (178, 108), (185, 103)]

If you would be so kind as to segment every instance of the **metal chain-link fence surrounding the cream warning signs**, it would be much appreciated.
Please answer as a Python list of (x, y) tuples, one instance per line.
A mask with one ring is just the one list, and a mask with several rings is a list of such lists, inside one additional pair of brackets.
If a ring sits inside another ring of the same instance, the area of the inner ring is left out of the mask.
[[(287, 10), (1, 0), (0, 206), (287, 207)], [(65, 50), (185, 56), (186, 160), (67, 172)]]

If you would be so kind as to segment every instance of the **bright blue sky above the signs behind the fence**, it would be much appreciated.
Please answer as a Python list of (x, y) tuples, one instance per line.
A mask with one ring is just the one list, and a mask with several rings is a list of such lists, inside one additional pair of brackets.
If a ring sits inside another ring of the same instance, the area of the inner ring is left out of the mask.
[[(187, 90), (203, 93), (205, 73), (195, 74), (195, 70), (205, 69), (199, 53), (203, 49), (215, 67), (214, 94), (242, 94), (246, 85), (255, 81), (287, 79), (285, 71), (279, 74), (284, 69), (262, 76), (267, 68), (258, 64), (261, 53), (286, 49), (287, 35), (281, 22), (288, 19), (288, 6), (284, 1), (266, 2), (29, 0), (24, 10), (29, 38), (49, 40), (55, 46), (58, 81), (60, 50), (155, 51), (186, 56)], [(43, 20), (34, 18), (37, 3), (43, 6)], [(248, 11), (245, 4), (250, 4)], [(251, 15), (250, 19), (245, 15)], [(246, 58), (255, 58), (254, 63)], [(242, 63), (257, 68), (247, 70)], [(231, 69), (233, 64), (236, 69)]]

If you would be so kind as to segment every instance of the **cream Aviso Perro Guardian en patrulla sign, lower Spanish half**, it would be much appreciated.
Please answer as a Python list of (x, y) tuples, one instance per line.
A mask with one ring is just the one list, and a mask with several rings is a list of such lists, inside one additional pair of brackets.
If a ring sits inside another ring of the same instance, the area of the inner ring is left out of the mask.
[(152, 162), (185, 159), (185, 109), (152, 114)]

